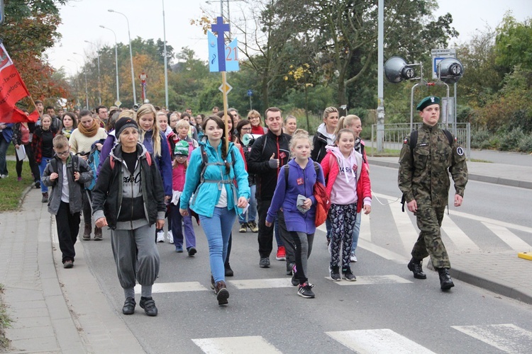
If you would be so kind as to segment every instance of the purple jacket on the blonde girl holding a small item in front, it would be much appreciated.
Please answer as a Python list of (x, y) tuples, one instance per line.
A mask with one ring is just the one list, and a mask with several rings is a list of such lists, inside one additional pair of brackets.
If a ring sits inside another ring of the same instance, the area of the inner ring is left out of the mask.
[[(314, 234), (316, 232), (316, 225), (314, 224), (316, 199), (314, 198), (313, 190), (316, 178), (325, 185), (323, 171), (321, 171), (321, 166), (319, 166), (319, 173), (316, 176), (312, 159), (309, 159), (305, 169), (301, 169), (294, 159), (290, 160), (287, 165), (289, 166), (288, 185), (284, 183), (284, 173), (286, 171), (282, 167), (279, 171), (277, 187), (273, 193), (272, 204), (270, 209), (268, 209), (266, 221), (273, 222), (277, 211), (282, 207), (284, 222), (287, 224), (288, 231)], [(297, 210), (296, 202), (299, 194), (312, 200), (312, 207), (304, 214)]]

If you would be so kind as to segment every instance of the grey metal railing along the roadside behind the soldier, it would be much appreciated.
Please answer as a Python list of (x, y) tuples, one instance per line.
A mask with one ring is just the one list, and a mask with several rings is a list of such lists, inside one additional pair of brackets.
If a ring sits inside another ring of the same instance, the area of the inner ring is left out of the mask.
[[(414, 123), (414, 130), (419, 129), (423, 123)], [(465, 149), (467, 159), (471, 156), (471, 126), (470, 123), (457, 123), (456, 129), (450, 124), (445, 127), (445, 124), (438, 123), (440, 128), (447, 129), (453, 132), (458, 143)], [(404, 138), (410, 134), (410, 123), (392, 123), (384, 125), (384, 144), (382, 145), (384, 150), (401, 150)], [(375, 156), (377, 151), (377, 125), (371, 126), (371, 141), (366, 142), (366, 146), (371, 147), (371, 156)]]

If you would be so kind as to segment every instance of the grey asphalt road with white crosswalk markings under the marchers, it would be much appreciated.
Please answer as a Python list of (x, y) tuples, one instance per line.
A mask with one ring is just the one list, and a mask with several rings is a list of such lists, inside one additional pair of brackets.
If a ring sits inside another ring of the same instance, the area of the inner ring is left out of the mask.
[[(373, 166), (371, 177), (382, 202), (399, 197), (396, 169)], [(531, 200), (532, 190), (472, 181), (465, 205), (457, 209), (463, 214), (454, 215), (451, 208), (450, 220), (480, 251), (497, 251), (504, 243), (475, 216), (532, 227)], [(271, 268), (259, 268), (256, 234), (239, 234), (235, 227), (235, 277), (227, 279), (231, 297), (227, 307), (218, 307), (209, 287), (206, 239), (196, 227), (193, 258), (175, 253), (166, 242), (157, 245), (162, 263), (154, 289), (167, 286), (153, 295), (159, 316), (145, 316), (139, 307), (123, 316), (109, 231), (104, 241), (86, 242), (85, 250), (101, 288), (147, 353), (216, 353), (211, 350), (220, 346), (226, 348), (221, 353), (230, 353), (228, 348), (255, 353), (528, 353), (532, 307), (460, 281), (441, 292), (437, 273), (431, 271), (427, 280), (412, 277), (405, 261), (409, 239), (416, 234), (410, 232), (414, 224), (408, 225), (413, 219), (407, 216), (405, 223), (399, 208), (399, 202), (381, 205), (374, 198), (371, 216), (362, 216), (359, 261), (353, 265), (357, 282), (326, 278), (329, 254), (318, 230), (309, 260), (315, 299), (297, 296), (275, 254)], [(516, 234), (532, 244), (532, 232)], [(396, 254), (397, 260), (387, 260), (383, 252)]]

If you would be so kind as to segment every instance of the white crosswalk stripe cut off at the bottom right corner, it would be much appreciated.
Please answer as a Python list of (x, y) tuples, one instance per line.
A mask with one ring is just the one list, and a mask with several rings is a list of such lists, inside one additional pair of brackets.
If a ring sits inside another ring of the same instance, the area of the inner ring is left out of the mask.
[(531, 351), (532, 332), (514, 324), (451, 326), (451, 328), (506, 353), (530, 353)]

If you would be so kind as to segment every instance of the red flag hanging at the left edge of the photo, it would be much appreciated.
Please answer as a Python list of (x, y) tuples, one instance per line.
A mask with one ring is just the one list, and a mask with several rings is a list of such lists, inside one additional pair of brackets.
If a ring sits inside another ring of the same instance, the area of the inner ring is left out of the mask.
[(16, 107), (22, 98), (30, 96), (21, 75), (0, 43), (0, 121), (5, 123), (36, 122), (38, 115), (27, 116)]

